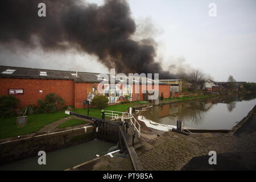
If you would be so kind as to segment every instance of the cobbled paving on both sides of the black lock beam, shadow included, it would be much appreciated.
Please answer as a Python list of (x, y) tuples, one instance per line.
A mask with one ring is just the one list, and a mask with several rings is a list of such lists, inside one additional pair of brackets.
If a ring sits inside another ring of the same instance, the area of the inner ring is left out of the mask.
[[(217, 165), (209, 165), (209, 151), (217, 152)], [(143, 142), (137, 155), (144, 170), (255, 169), (256, 132), (246, 137), (205, 133), (183, 135), (169, 131)], [(128, 158), (102, 156), (71, 170), (133, 170)]]

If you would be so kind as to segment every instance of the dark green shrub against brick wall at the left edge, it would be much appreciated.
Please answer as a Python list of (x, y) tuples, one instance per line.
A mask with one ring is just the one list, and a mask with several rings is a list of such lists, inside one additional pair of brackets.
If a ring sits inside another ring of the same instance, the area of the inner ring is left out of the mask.
[(14, 96), (0, 97), (0, 117), (9, 117), (15, 114), (15, 108), (18, 107), (19, 100)]

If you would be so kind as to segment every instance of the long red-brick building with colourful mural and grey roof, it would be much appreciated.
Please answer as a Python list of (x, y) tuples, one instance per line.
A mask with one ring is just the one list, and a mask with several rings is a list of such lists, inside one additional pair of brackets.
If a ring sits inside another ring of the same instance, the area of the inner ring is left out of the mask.
[[(130, 96), (131, 101), (146, 100), (142, 93), (142, 89), (147, 88), (142, 81), (146, 79), (144, 77), (139, 77), (138, 85), (135, 85), (135, 77), (129, 77), (134, 79), (134, 84), (128, 84), (129, 79), (127, 84), (115, 81), (114, 88), (113, 85), (110, 88), (108, 83), (102, 84), (104, 79), (98, 77), (99, 73), (0, 66), (0, 96), (11, 94), (19, 99), (19, 107), (24, 107), (28, 104), (37, 105), (39, 99), (43, 100), (49, 93), (56, 93), (65, 100), (65, 105), (75, 106), (76, 109), (84, 106), (84, 100), (98, 94), (107, 96), (111, 104), (121, 102), (125, 96)], [(154, 80), (148, 82), (158, 82), (159, 96), (163, 93), (164, 98), (170, 97), (170, 85)], [(102, 93), (97, 92), (98, 85), (102, 88)], [(136, 87), (139, 88), (139, 93), (135, 93)]]

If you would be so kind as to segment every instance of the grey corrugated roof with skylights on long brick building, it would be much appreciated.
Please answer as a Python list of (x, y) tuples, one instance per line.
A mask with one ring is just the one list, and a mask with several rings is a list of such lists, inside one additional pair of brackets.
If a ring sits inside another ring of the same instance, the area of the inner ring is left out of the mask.
[[(9, 70), (9, 71), (7, 71), (7, 70)], [(100, 73), (77, 72), (77, 77), (76, 77), (76, 72), (74, 72), (74, 71), (9, 67), (9, 66), (1, 66), (0, 65), (0, 77), (74, 80), (75, 82), (98, 83), (98, 82), (102, 81), (102, 80), (98, 80), (97, 75), (99, 75), (99, 74)], [(110, 80), (110, 74), (107, 74), (107, 75)], [(142, 82), (143, 79), (144, 78), (141, 77), (140, 82)], [(119, 82), (119, 80), (116, 80), (116, 82)], [(168, 85), (168, 84), (159, 82), (159, 85)]]

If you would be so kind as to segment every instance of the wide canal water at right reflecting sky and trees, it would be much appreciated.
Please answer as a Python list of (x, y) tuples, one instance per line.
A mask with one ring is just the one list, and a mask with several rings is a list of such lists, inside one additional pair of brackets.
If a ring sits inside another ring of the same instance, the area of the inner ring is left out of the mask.
[(181, 120), (192, 129), (230, 130), (256, 105), (256, 95), (217, 96), (151, 107), (142, 115), (164, 125)]

